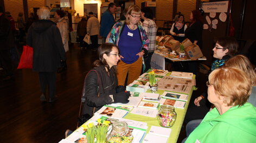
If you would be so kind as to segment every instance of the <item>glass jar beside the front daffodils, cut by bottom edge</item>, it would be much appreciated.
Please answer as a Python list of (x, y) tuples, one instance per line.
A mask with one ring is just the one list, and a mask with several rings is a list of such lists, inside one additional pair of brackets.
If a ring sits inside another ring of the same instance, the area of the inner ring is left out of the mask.
[(107, 142), (110, 143), (121, 143), (127, 142), (130, 143), (133, 140), (132, 131), (129, 130), (129, 127), (124, 121), (114, 122), (112, 125), (111, 133), (107, 135)]

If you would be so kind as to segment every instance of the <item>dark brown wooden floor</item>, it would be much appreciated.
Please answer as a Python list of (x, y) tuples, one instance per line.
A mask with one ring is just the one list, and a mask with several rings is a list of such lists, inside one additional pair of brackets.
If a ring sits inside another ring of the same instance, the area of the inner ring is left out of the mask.
[[(76, 44), (69, 47), (68, 69), (57, 74), (59, 99), (54, 103), (40, 101), (39, 77), (31, 69), (18, 69), (14, 79), (0, 81), (0, 142), (59, 142), (65, 138), (66, 129), (76, 128), (85, 73), (95, 59), (96, 51), (81, 50)], [(183, 138), (184, 127), (178, 142)]]

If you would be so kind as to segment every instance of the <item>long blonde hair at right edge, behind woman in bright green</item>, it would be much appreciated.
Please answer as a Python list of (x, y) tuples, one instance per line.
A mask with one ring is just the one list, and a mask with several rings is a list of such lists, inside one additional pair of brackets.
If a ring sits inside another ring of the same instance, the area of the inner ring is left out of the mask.
[(236, 55), (225, 62), (225, 66), (241, 69), (252, 80), (252, 86), (256, 85), (256, 73), (249, 59), (244, 55)]

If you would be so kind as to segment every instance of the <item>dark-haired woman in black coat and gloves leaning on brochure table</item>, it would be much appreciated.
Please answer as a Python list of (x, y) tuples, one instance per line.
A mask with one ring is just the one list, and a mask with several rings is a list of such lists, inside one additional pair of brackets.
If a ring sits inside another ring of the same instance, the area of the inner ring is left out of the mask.
[(118, 47), (110, 43), (102, 44), (98, 49), (98, 55), (99, 60), (93, 62), (94, 68), (85, 77), (82, 92), (85, 99), (82, 114), (89, 117), (104, 105), (129, 102), (130, 96), (130, 92), (120, 92), (116, 89), (116, 66), (120, 60)]

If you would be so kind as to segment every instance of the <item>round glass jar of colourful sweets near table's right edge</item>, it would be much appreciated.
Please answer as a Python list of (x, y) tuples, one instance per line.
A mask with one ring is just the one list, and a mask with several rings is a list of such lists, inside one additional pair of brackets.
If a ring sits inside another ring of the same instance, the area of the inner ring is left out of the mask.
[(162, 105), (158, 111), (157, 120), (162, 127), (170, 128), (174, 125), (177, 114), (174, 111), (174, 106)]

